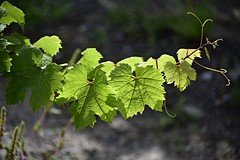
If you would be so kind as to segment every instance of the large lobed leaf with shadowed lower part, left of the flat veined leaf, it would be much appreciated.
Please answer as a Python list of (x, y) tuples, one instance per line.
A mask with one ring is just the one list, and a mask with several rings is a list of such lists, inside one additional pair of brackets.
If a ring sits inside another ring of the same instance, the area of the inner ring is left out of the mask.
[(58, 103), (75, 101), (71, 110), (77, 128), (93, 127), (95, 115), (106, 122), (111, 122), (116, 115), (115, 108), (106, 104), (108, 95), (114, 92), (107, 83), (105, 72), (99, 69), (93, 80), (88, 80), (87, 73), (87, 67), (82, 64), (68, 70), (57, 97)]

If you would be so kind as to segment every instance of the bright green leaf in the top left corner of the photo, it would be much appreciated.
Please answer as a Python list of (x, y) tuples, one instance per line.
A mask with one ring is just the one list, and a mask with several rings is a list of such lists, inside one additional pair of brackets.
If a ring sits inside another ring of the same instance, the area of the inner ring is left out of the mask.
[(4, 1), (1, 6), (6, 9), (7, 15), (0, 19), (0, 23), (10, 25), (12, 22), (15, 22), (15, 23), (18, 23), (22, 29), (24, 29), (25, 14), (23, 13), (23, 11), (11, 5), (7, 1)]

